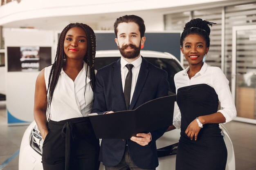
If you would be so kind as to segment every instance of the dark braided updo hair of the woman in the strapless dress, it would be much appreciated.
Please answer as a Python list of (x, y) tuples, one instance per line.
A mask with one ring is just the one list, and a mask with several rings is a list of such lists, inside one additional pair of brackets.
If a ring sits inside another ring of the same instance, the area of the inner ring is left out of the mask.
[(209, 25), (212, 26), (213, 24), (216, 24), (216, 23), (202, 20), (201, 18), (190, 20), (185, 24), (184, 30), (181, 34), (180, 46), (181, 47), (183, 46), (183, 42), (186, 36), (188, 36), (189, 34), (198, 34), (204, 38), (204, 40), (206, 41), (207, 47), (209, 47), (210, 46), (209, 35), (211, 32)]

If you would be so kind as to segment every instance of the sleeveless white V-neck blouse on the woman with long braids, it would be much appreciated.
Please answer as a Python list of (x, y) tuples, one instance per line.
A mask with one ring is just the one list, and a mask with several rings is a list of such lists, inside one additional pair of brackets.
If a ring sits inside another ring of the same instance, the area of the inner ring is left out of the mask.
[[(45, 68), (46, 89), (48, 87), (51, 68), (52, 66)], [(74, 81), (61, 69), (50, 107), (51, 120), (61, 121), (75, 117), (87, 117), (91, 112), (94, 98), (90, 85), (89, 71), (86, 77), (86, 68), (87, 64), (84, 62), (83, 69), (79, 72)]]

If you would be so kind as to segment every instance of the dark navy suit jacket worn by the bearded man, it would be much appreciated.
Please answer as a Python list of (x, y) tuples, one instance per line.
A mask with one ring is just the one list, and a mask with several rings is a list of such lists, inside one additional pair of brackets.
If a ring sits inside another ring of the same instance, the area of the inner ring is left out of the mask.
[[(149, 100), (166, 95), (168, 95), (166, 71), (148, 63), (142, 57), (129, 110), (135, 109)], [(99, 69), (96, 75), (92, 113), (102, 114), (111, 110), (114, 112), (126, 110), (120, 59)], [(150, 132), (152, 139), (148, 146), (141, 146), (130, 139), (102, 139), (99, 160), (105, 166), (116, 166), (124, 155), (127, 141), (130, 157), (139, 168), (156, 168), (158, 158), (155, 141), (164, 134), (166, 129), (167, 127)]]

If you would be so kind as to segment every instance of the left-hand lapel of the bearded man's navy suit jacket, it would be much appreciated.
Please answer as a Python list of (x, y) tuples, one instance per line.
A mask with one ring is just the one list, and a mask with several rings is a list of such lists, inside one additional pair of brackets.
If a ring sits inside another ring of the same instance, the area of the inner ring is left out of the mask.
[(112, 82), (118, 101), (121, 104), (122, 110), (126, 110), (126, 104), (124, 100), (124, 92), (121, 79), (121, 63), (120, 59), (112, 67)]

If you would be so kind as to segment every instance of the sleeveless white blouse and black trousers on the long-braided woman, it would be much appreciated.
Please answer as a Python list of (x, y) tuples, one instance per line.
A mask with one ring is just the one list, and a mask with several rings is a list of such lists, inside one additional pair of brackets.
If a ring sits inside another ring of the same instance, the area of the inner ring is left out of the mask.
[[(45, 68), (46, 88), (51, 68)], [(96, 139), (88, 117), (93, 104), (93, 91), (86, 68), (84, 62), (74, 81), (61, 70), (50, 107), (49, 133), (43, 143), (42, 163), (45, 170), (99, 169), (99, 139)]]

